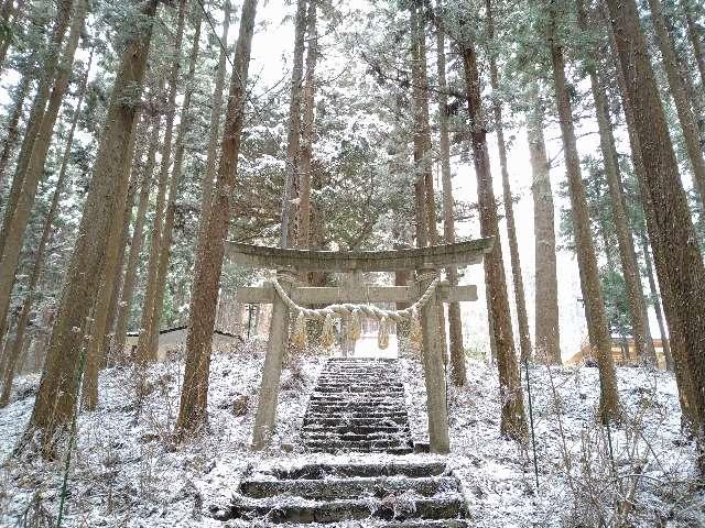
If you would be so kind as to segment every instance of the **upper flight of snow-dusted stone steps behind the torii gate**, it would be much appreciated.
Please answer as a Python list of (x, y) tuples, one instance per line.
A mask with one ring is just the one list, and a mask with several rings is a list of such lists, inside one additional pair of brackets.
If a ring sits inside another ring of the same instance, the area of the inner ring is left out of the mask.
[(399, 369), (389, 359), (328, 360), (304, 418), (304, 446), (327, 453), (412, 452)]

